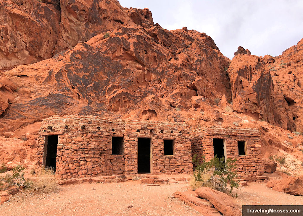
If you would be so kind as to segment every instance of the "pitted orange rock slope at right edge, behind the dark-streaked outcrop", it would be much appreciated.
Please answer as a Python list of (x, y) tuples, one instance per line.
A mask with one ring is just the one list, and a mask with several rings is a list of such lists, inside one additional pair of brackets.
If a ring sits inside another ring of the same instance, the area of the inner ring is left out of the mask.
[(275, 125), (303, 132), (303, 39), (278, 57), (266, 55), (274, 83)]

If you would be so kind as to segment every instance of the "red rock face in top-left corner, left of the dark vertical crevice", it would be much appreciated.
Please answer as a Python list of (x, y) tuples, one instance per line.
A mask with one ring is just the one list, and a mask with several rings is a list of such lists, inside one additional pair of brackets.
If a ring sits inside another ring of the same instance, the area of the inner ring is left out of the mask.
[(0, 8), (0, 71), (52, 57), (60, 28), (56, 4), (5, 0)]

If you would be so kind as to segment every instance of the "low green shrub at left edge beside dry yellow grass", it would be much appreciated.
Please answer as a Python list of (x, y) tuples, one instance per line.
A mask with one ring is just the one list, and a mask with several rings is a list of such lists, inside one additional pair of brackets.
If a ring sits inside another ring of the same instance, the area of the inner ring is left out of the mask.
[(32, 181), (26, 180), (24, 178), (25, 168), (21, 165), (18, 165), (12, 169), (12, 174), (6, 174), (5, 177), (0, 176), (0, 190), (6, 190), (11, 186), (24, 188), (30, 187), (32, 185)]

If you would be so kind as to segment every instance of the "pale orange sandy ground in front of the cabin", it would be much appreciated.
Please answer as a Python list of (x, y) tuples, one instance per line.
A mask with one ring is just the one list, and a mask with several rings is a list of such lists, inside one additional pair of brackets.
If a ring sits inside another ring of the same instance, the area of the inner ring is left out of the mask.
[[(171, 197), (188, 188), (183, 184), (147, 186), (138, 181), (66, 185), (52, 194), (18, 193), (0, 205), (0, 215), (201, 215)], [(234, 191), (239, 209), (242, 205), (303, 204), (303, 197), (274, 191), (264, 183), (249, 183)]]

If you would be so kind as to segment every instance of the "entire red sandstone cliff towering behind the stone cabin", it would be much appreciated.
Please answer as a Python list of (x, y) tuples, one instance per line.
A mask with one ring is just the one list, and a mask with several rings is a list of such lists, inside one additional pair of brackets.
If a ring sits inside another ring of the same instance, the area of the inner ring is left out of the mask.
[(148, 8), (115, 0), (5, 0), (0, 8), (7, 139), (35, 139), (41, 120), (55, 114), (262, 125), (264, 149), (300, 159), (301, 135), (285, 134), (303, 132), (302, 40), (278, 57), (238, 47), (230, 60), (205, 33), (168, 31)]

